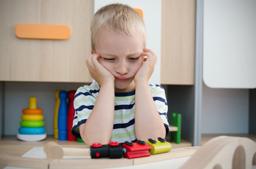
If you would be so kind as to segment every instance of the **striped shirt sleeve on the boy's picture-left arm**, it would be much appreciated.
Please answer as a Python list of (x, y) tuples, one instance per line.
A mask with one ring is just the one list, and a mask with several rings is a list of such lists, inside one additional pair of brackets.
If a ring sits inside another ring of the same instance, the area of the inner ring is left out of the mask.
[(93, 111), (93, 106), (97, 99), (95, 93), (98, 94), (98, 91), (90, 90), (88, 86), (79, 87), (76, 91), (74, 97), (75, 115), (71, 129), (71, 133), (75, 137), (81, 138), (79, 125), (86, 123), (91, 111)]

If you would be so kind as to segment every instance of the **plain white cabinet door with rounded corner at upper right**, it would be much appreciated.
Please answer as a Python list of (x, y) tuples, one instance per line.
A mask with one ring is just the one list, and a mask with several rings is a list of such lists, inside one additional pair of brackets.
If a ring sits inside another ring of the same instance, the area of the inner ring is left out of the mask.
[(208, 87), (256, 88), (256, 1), (204, 1), (203, 80)]

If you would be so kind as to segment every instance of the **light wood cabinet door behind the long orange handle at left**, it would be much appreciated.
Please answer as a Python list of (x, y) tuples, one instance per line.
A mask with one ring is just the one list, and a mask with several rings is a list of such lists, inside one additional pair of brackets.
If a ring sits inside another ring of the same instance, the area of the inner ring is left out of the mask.
[[(0, 1), (0, 80), (90, 82), (93, 0)], [(67, 25), (67, 40), (19, 39), (18, 23)]]

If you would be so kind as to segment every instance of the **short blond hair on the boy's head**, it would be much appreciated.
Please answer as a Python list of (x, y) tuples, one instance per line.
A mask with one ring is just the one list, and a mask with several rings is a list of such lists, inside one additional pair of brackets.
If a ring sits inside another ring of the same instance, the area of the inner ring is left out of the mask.
[(91, 21), (91, 47), (95, 51), (95, 37), (101, 29), (133, 36), (136, 30), (144, 35), (146, 46), (146, 27), (143, 18), (133, 8), (124, 4), (110, 4), (100, 8)]

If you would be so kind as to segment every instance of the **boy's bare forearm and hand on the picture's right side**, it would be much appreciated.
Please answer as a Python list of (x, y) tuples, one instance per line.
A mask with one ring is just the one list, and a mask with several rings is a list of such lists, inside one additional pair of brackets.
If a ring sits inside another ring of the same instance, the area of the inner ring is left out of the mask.
[(147, 140), (165, 137), (165, 126), (149, 89), (149, 78), (156, 65), (157, 56), (149, 49), (144, 49), (144, 56), (148, 58), (134, 77), (136, 88), (135, 133), (137, 139)]

